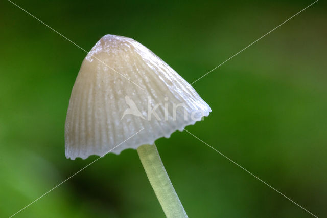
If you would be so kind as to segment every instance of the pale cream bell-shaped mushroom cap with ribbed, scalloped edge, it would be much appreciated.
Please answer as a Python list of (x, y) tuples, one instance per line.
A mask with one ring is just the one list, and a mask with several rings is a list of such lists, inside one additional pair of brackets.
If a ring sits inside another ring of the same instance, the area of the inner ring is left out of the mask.
[(77, 75), (65, 124), (65, 154), (72, 160), (103, 156), (117, 145), (110, 152), (119, 154), (169, 138), (210, 112), (192, 86), (141, 43), (105, 35)]

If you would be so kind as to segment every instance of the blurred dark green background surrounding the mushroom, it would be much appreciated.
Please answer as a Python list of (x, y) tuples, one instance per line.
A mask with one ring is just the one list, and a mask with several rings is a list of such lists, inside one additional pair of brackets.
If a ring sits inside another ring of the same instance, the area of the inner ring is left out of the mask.
[[(22, 1), (85, 50), (134, 38), (190, 83), (313, 1)], [(318, 217), (327, 214), (327, 16), (318, 1), (193, 84), (189, 126)], [(0, 217), (95, 160), (67, 160), (64, 123), (86, 53), (0, 3)], [(186, 132), (156, 142), (190, 217), (312, 217)], [(135, 150), (106, 155), (16, 217), (164, 217)]]

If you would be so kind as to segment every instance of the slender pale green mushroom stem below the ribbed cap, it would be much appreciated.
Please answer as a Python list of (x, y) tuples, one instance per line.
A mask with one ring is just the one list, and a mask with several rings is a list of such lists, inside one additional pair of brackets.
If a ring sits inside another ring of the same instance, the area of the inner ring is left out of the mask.
[(166, 216), (188, 217), (161, 162), (157, 147), (142, 145), (137, 152)]

